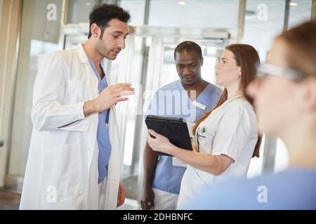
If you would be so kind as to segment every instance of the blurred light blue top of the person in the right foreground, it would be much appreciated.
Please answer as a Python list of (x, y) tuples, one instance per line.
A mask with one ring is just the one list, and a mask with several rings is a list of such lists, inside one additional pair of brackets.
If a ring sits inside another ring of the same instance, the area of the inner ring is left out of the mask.
[(254, 179), (231, 179), (201, 191), (178, 209), (315, 210), (316, 169), (291, 168)]

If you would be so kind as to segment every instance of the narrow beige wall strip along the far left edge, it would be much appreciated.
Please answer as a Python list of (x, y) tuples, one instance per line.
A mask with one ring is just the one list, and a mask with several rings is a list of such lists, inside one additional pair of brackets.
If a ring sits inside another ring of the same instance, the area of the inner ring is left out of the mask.
[[(22, 1), (2, 1), (0, 32), (0, 187), (4, 186), (6, 159), (11, 141), (11, 114), (15, 87), (16, 52)], [(10, 17), (8, 15), (11, 15)]]

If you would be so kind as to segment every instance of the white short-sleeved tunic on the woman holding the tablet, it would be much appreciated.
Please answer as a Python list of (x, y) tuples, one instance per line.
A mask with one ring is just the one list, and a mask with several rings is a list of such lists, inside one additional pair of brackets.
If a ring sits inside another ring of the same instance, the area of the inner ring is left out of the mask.
[(228, 155), (234, 162), (218, 176), (187, 166), (181, 181), (177, 208), (190, 203), (203, 188), (214, 183), (246, 177), (257, 140), (256, 114), (244, 97), (232, 97), (212, 111), (197, 127), (195, 145), (199, 153)]

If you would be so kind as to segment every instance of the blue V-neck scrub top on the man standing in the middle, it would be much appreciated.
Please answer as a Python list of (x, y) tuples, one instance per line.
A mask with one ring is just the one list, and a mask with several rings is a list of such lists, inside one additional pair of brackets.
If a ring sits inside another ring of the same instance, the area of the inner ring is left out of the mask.
[[(205, 109), (201, 109), (192, 104), (180, 80), (176, 80), (155, 92), (145, 116), (185, 118), (188, 123), (194, 123), (204, 113), (211, 111), (213, 106), (218, 102), (221, 92), (220, 88), (209, 83), (196, 100), (196, 102), (206, 106)], [(169, 193), (179, 194), (180, 183), (185, 169), (184, 167), (173, 166), (172, 157), (159, 155), (152, 187)]]

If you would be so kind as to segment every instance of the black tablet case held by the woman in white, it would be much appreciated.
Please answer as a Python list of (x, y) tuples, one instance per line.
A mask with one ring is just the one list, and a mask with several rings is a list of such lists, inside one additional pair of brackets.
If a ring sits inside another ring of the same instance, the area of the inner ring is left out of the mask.
[[(147, 116), (145, 123), (148, 129), (162, 134), (168, 138), (173, 145), (186, 150), (193, 150), (189, 130), (187, 130), (187, 123), (184, 122), (183, 118)], [(171, 156), (160, 152), (158, 152), (158, 154)]]

